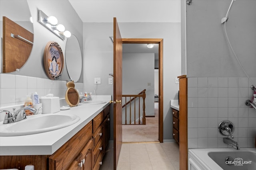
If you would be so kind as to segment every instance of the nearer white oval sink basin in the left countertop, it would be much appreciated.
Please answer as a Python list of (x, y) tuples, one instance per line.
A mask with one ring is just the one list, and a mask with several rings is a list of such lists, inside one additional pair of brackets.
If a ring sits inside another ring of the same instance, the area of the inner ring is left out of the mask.
[(80, 117), (72, 114), (43, 114), (27, 116), (27, 119), (14, 123), (3, 124), (0, 122), (0, 136), (22, 136), (43, 133), (61, 129), (80, 120)]

